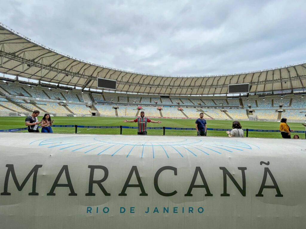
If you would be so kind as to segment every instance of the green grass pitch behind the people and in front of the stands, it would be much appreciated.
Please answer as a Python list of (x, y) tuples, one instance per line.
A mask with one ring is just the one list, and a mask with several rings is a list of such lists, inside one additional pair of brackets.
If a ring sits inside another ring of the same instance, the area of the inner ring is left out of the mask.
[[(41, 117), (39, 117), (41, 118)], [(137, 123), (125, 123), (124, 118), (109, 118), (109, 117), (53, 117), (54, 125), (93, 125), (93, 126), (137, 126)], [(128, 118), (132, 119), (132, 118)], [(157, 118), (152, 118), (157, 121)], [(0, 129), (15, 129), (24, 128), (25, 117), (0, 117)], [(39, 119), (40, 120), (40, 119)], [(195, 119), (168, 119), (161, 118), (162, 123), (148, 123), (148, 127), (183, 127), (195, 128)], [(230, 120), (207, 120), (207, 128), (231, 129), (232, 122)], [(278, 130), (279, 122), (256, 122), (256, 121), (241, 121), (243, 129), (270, 129)], [(288, 123), (293, 130), (305, 130), (301, 123)], [(75, 128), (69, 127), (52, 127), (54, 133), (74, 133)], [(89, 129), (78, 128), (80, 134), (120, 134), (120, 129)], [(27, 132), (27, 131), (22, 131)], [(162, 135), (163, 130), (147, 130), (148, 135)], [(137, 134), (136, 129), (122, 129), (122, 134)], [(291, 133), (293, 137), (295, 133)], [(196, 131), (193, 130), (166, 130), (165, 135), (190, 135), (195, 136)], [(305, 138), (304, 133), (297, 133), (300, 138)], [(227, 136), (225, 131), (207, 131), (207, 136)], [(246, 133), (244, 133), (246, 136)], [(270, 132), (249, 132), (249, 137), (264, 137), (264, 138), (281, 138), (280, 133)]]

